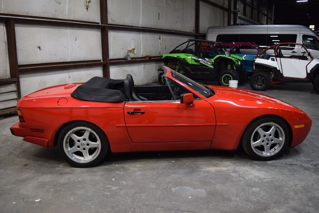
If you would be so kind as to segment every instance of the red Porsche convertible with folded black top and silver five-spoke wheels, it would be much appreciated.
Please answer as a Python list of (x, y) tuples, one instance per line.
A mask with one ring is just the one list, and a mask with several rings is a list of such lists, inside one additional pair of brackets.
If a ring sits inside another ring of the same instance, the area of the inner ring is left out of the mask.
[(70, 165), (90, 167), (108, 151), (236, 150), (239, 144), (250, 157), (271, 160), (310, 131), (312, 120), (288, 103), (162, 69), (167, 85), (134, 86), (128, 75), (33, 92), (19, 99), (11, 133), (57, 145)]

